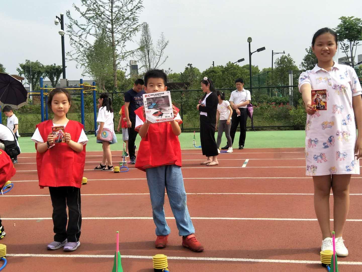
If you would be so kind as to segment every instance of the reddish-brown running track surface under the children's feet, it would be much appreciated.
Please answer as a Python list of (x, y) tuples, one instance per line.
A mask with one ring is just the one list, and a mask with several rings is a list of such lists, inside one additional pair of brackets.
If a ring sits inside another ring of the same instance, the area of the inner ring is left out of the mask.
[[(234, 261), (169, 259), (171, 272), (327, 271), (320, 264), (292, 261), (318, 261), (321, 243), (317, 221), (298, 220), (316, 218), (313, 195), (310, 195), (313, 193), (312, 179), (304, 176), (302, 148), (235, 150), (232, 154), (220, 154), (216, 167), (199, 164), (205, 158), (200, 149), (182, 153), (188, 207), (191, 218), (196, 218), (193, 223), (197, 238), (205, 246), (204, 252), (194, 253), (182, 248), (174, 219), (168, 219), (172, 230), (168, 247), (154, 248), (155, 226), (150, 219), (152, 210), (146, 174), (133, 169), (132, 165), (127, 173), (84, 172), (88, 184), (81, 189), (82, 215), (90, 219), (84, 219), (82, 223), (81, 247), (72, 253), (47, 251), (46, 244), (53, 237), (52, 220), (42, 218), (51, 218), (49, 190), (38, 187), (35, 153), (25, 153), (16, 165), (13, 190), (0, 196), (1, 206), (5, 207), (1, 218), (4, 218), (7, 232), (1, 242), (7, 245), (9, 254), (4, 271), (110, 271), (116, 230), (120, 232), (121, 255), (126, 256), (122, 258), (125, 272), (152, 272), (152, 260), (136, 256), (160, 253), (172, 257), (237, 258)], [(85, 169), (99, 164), (100, 155), (101, 152), (88, 152)], [(114, 161), (121, 159), (119, 155), (119, 152), (113, 152)], [(242, 168), (245, 159), (249, 161)], [(352, 179), (350, 193), (361, 194), (362, 177), (354, 177), (357, 178)], [(362, 219), (361, 197), (351, 195), (349, 219)], [(167, 217), (173, 217), (167, 200), (165, 213)], [(118, 219), (110, 219), (114, 217)], [(362, 243), (358, 234), (361, 224), (359, 221), (346, 223), (344, 239), (350, 255), (339, 258), (340, 262), (362, 260), (358, 246)], [(48, 254), (54, 257), (43, 256)], [(55, 257), (59, 254), (74, 257)], [(76, 257), (79, 255), (83, 256)], [(291, 263), (286, 263), (288, 260)], [(362, 263), (340, 264), (339, 271), (362, 271)]]

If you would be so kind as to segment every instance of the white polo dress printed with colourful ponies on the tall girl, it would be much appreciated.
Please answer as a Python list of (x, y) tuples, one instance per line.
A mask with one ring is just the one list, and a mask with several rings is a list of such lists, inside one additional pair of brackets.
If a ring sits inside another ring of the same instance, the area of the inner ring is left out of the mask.
[(306, 175), (359, 174), (352, 97), (362, 89), (356, 72), (336, 62), (329, 72), (316, 65), (300, 74), (299, 90), (306, 83), (312, 90), (327, 89), (327, 110), (307, 114)]

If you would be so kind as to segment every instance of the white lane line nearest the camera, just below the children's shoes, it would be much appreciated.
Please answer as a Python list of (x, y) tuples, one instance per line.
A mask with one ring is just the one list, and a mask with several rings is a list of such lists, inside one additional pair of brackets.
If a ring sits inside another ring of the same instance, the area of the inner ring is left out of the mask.
[[(51, 258), (114, 258), (114, 255), (86, 255), (86, 254), (7, 254), (9, 257), (51, 257)], [(152, 259), (152, 256), (122, 255), (122, 258)], [(167, 256), (169, 260), (193, 260), (193, 261), (240, 261), (256, 263), (292, 263), (292, 264), (320, 264), (320, 261), (308, 260), (279, 260), (279, 259), (244, 259), (244, 258), (218, 258), (218, 257), (181, 257)], [(361, 261), (338, 261), (338, 264), (362, 265)]]

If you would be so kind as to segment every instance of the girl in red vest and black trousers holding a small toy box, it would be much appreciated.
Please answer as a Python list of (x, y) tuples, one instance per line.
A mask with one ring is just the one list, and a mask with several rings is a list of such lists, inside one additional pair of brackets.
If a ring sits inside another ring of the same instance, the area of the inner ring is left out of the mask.
[[(65, 89), (52, 90), (48, 106), (54, 112), (54, 119), (38, 124), (31, 137), (37, 149), (39, 186), (41, 189), (49, 187), (53, 206), (55, 235), (54, 242), (49, 243), (47, 249), (57, 250), (64, 246), (64, 251), (74, 251), (80, 246), (80, 187), (88, 138), (81, 123), (66, 117), (71, 107), (71, 96)], [(61, 125), (65, 128), (66, 142), (54, 144), (52, 127)]]

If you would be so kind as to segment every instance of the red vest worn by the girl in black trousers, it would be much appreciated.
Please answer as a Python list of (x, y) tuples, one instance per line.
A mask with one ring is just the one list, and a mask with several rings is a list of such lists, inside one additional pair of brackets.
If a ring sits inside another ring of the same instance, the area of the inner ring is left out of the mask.
[[(48, 139), (53, 126), (52, 120), (44, 121), (36, 127), (43, 140)], [(70, 133), (71, 139), (79, 140), (83, 125), (69, 120), (65, 132)], [(35, 144), (35, 149), (37, 144)], [(85, 164), (85, 145), (83, 151), (75, 152), (67, 143), (57, 143), (44, 153), (37, 152), (37, 169), (40, 188), (73, 186), (80, 188)]]

